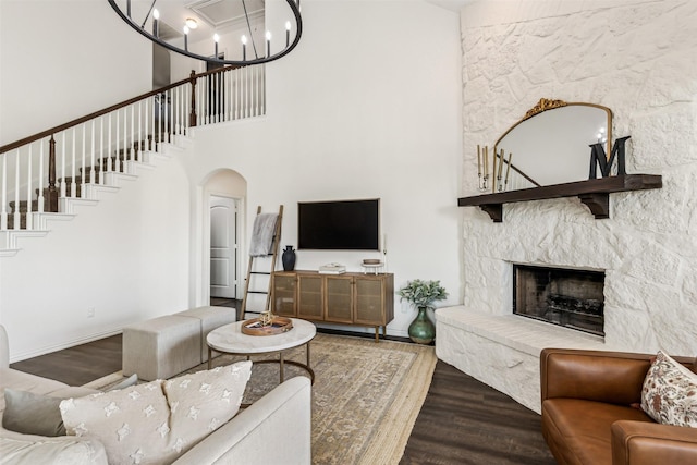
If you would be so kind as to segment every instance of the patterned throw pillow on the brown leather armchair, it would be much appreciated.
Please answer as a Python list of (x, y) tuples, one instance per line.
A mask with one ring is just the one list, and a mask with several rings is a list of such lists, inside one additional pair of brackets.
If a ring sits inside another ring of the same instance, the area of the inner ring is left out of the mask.
[(697, 374), (659, 351), (644, 379), (641, 409), (660, 424), (697, 428)]

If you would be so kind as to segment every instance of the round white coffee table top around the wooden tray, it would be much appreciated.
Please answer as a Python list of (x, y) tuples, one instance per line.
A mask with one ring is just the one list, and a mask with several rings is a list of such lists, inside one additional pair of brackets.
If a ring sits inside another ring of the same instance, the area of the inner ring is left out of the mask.
[(208, 333), (208, 346), (227, 354), (266, 354), (303, 345), (315, 338), (317, 328), (309, 321), (291, 318), (293, 329), (280, 334), (249, 335), (242, 332), (243, 321), (222, 326)]

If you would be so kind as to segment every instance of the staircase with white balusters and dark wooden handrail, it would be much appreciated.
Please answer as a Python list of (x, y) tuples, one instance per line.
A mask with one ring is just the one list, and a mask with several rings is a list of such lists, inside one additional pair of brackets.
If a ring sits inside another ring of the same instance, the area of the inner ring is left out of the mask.
[(192, 72), (152, 90), (0, 147), (0, 257), (26, 237), (71, 220), (123, 180), (152, 169), (193, 136), (192, 127), (266, 113), (264, 65)]

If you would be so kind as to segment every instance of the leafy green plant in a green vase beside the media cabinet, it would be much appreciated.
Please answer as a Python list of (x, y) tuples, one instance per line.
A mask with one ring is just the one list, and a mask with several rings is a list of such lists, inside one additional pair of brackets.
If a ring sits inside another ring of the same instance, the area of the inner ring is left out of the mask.
[(428, 317), (428, 309), (433, 309), (433, 302), (448, 297), (445, 287), (440, 281), (413, 280), (398, 291), (400, 302), (407, 301), (417, 309), (414, 321), (409, 325), (409, 338), (418, 344), (430, 344), (436, 339), (436, 326)]

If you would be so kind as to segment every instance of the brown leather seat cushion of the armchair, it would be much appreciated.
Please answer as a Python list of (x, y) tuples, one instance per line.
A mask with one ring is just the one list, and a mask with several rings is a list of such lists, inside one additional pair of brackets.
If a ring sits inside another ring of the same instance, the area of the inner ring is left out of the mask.
[(564, 463), (612, 463), (610, 427), (621, 419), (651, 421), (644, 412), (623, 405), (563, 397), (542, 402), (545, 439)]

